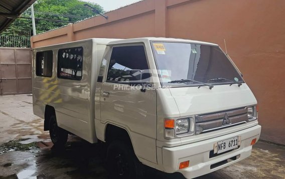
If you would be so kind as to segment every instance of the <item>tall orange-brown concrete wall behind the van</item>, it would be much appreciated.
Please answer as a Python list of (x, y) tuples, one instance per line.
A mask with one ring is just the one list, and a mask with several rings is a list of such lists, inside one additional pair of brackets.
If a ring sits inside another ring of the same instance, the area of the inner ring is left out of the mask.
[(285, 144), (285, 1), (145, 0), (32, 37), (33, 47), (87, 38), (173, 37), (219, 44), (259, 103), (261, 138)]

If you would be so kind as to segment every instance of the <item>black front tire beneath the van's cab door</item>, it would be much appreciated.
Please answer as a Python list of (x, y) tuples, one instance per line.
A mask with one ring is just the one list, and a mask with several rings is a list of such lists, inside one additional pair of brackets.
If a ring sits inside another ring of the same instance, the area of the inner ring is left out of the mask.
[(112, 179), (137, 179), (144, 176), (144, 165), (138, 161), (132, 147), (119, 140), (108, 146), (106, 169)]

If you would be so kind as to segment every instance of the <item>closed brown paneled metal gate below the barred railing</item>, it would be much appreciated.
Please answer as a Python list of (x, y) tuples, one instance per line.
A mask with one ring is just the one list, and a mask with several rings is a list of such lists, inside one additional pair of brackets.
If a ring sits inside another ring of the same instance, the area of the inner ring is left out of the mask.
[(0, 48), (0, 95), (32, 93), (30, 48)]

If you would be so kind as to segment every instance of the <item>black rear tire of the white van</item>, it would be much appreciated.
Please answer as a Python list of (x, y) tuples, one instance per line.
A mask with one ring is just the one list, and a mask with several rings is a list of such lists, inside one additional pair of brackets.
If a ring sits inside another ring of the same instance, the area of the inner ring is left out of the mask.
[(55, 115), (50, 117), (49, 129), (54, 146), (63, 147), (67, 142), (68, 132), (57, 125)]

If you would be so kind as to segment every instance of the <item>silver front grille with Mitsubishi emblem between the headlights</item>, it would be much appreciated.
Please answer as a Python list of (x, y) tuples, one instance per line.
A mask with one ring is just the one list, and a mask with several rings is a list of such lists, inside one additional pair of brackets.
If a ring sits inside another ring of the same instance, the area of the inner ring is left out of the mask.
[(247, 107), (195, 116), (196, 134), (232, 127), (248, 122)]

